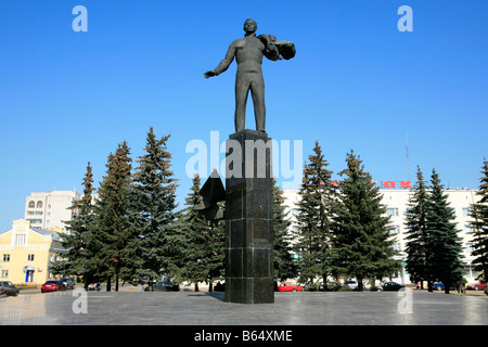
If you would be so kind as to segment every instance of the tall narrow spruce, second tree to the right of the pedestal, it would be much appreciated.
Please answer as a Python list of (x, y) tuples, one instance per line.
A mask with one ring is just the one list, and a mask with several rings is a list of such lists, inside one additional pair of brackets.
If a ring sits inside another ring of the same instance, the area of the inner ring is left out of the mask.
[(322, 277), (324, 285), (330, 273), (330, 216), (333, 190), (332, 171), (325, 160), (319, 142), (316, 141), (309, 163), (304, 167), (304, 178), (297, 204), (299, 281), (313, 284), (316, 277)]

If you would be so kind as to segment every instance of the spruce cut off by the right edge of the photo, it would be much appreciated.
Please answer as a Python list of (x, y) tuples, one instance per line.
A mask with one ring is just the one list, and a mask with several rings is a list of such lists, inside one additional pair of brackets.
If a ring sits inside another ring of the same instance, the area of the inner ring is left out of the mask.
[[(488, 280), (488, 162), (484, 159), (481, 167), (480, 185), (477, 195), (480, 200), (476, 204), (471, 205), (471, 216), (473, 222), (473, 252), (475, 257), (475, 270), (479, 271), (477, 280), (487, 282)], [(485, 292), (488, 294), (488, 291)]]

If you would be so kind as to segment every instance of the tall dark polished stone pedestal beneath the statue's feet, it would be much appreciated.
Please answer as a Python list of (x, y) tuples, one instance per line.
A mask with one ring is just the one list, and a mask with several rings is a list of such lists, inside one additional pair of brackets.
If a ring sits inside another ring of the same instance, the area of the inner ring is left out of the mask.
[(272, 304), (271, 139), (243, 130), (226, 144), (226, 301)]

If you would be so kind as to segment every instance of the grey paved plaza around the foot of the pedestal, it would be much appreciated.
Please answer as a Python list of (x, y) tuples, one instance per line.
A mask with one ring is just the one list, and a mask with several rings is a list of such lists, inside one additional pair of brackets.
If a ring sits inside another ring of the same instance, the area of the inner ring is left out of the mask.
[(228, 304), (224, 293), (22, 291), (0, 298), (2, 325), (488, 325), (488, 298), (427, 292), (275, 293)]

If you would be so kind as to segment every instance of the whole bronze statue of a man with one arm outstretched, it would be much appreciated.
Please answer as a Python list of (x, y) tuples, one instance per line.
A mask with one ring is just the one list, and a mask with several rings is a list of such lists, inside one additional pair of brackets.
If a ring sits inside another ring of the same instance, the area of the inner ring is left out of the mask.
[(244, 23), (244, 38), (231, 43), (226, 57), (213, 70), (204, 74), (205, 78), (218, 76), (227, 70), (234, 60), (237, 62), (235, 75), (235, 132), (244, 130), (247, 95), (251, 91), (256, 118), (256, 130), (266, 131), (265, 79), (262, 77), (262, 56), (278, 61), (295, 56), (295, 46), (290, 41), (277, 41), (272, 35), (256, 37), (257, 24), (253, 20)]

